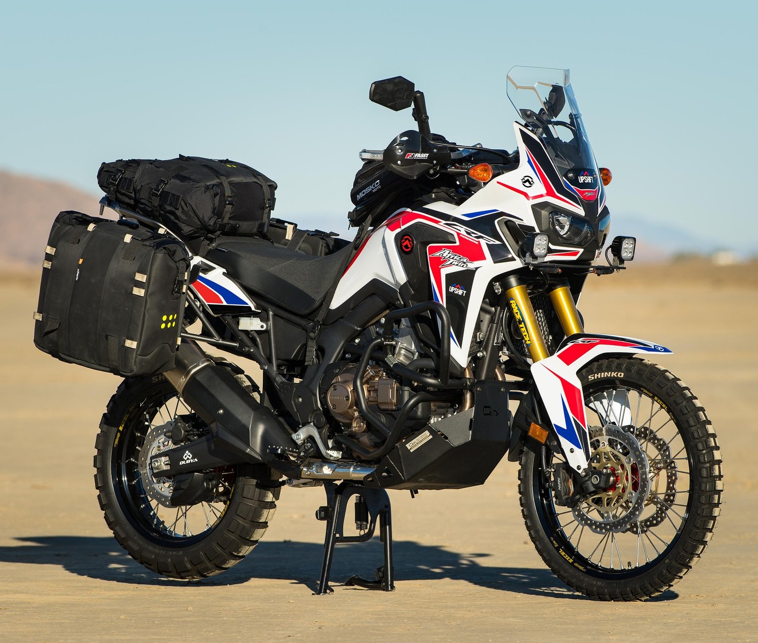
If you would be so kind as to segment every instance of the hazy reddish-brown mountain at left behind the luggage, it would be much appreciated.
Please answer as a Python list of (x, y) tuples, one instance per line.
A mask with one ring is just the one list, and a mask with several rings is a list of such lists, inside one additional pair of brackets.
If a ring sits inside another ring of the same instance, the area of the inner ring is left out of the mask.
[(50, 226), (58, 212), (98, 214), (99, 198), (64, 183), (0, 170), (0, 265), (41, 264)]

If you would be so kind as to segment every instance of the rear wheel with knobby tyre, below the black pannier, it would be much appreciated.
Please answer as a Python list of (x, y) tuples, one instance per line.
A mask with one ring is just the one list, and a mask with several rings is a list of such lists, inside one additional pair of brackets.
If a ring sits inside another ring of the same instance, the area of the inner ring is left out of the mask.
[(215, 487), (204, 501), (172, 507), (173, 483), (153, 476), (149, 460), (175, 446), (177, 417), (193, 427), (193, 439), (208, 430), (163, 376), (125, 379), (100, 423), (95, 485), (105, 522), (131, 557), (163, 576), (199, 579), (252, 551), (280, 487), (266, 467), (227, 467), (212, 472)]

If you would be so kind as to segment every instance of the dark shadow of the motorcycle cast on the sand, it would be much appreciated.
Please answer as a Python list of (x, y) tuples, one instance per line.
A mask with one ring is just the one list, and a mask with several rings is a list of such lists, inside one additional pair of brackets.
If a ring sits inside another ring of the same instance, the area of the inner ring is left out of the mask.
[[(243, 562), (219, 576), (197, 582), (168, 579), (145, 570), (124, 552), (113, 538), (89, 536), (30, 536), (16, 538), (19, 545), (0, 547), (0, 563), (60, 565), (70, 573), (87, 578), (130, 585), (163, 585), (187, 588), (238, 585), (251, 579), (288, 579), (314, 590), (318, 585), (324, 548), (312, 542), (261, 542)], [(578, 595), (550, 570), (531, 567), (489, 567), (480, 561), (490, 554), (462, 554), (436, 545), (396, 541), (395, 581), (402, 591), (403, 581), (436, 579), (463, 580), (481, 587), (516, 594), (590, 600)], [(331, 584), (339, 588), (352, 574), (373, 578), (381, 565), (378, 538), (362, 545), (339, 545), (335, 550)], [(349, 588), (346, 591), (365, 591)], [(669, 590), (653, 601), (677, 598)]]

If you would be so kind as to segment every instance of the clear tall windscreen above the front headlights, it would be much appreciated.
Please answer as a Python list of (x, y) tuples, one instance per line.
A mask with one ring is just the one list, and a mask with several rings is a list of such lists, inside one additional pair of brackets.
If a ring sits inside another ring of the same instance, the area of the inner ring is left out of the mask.
[(568, 70), (513, 67), (508, 73), (508, 98), (540, 137), (563, 178), (578, 191), (596, 191), (597, 164)]

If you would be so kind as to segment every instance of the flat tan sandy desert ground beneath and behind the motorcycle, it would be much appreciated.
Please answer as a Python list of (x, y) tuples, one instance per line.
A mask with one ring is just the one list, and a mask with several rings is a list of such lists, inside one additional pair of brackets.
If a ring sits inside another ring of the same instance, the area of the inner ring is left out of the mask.
[[(102, 520), (93, 444), (114, 376), (61, 364), (32, 344), (36, 275), (0, 279), (0, 639), (211, 637), (280, 641), (754, 640), (758, 607), (758, 265), (633, 267), (590, 277), (587, 329), (653, 339), (690, 385), (722, 447), (725, 495), (694, 570), (655, 601), (575, 595), (525, 532), (516, 465), (484, 487), (393, 498), (396, 588), (312, 595), (320, 489), (285, 489), (265, 540), (205, 582), (161, 579), (128, 557)], [(663, 361), (665, 359), (665, 362)], [(338, 548), (334, 581), (371, 573), (377, 542)]]

